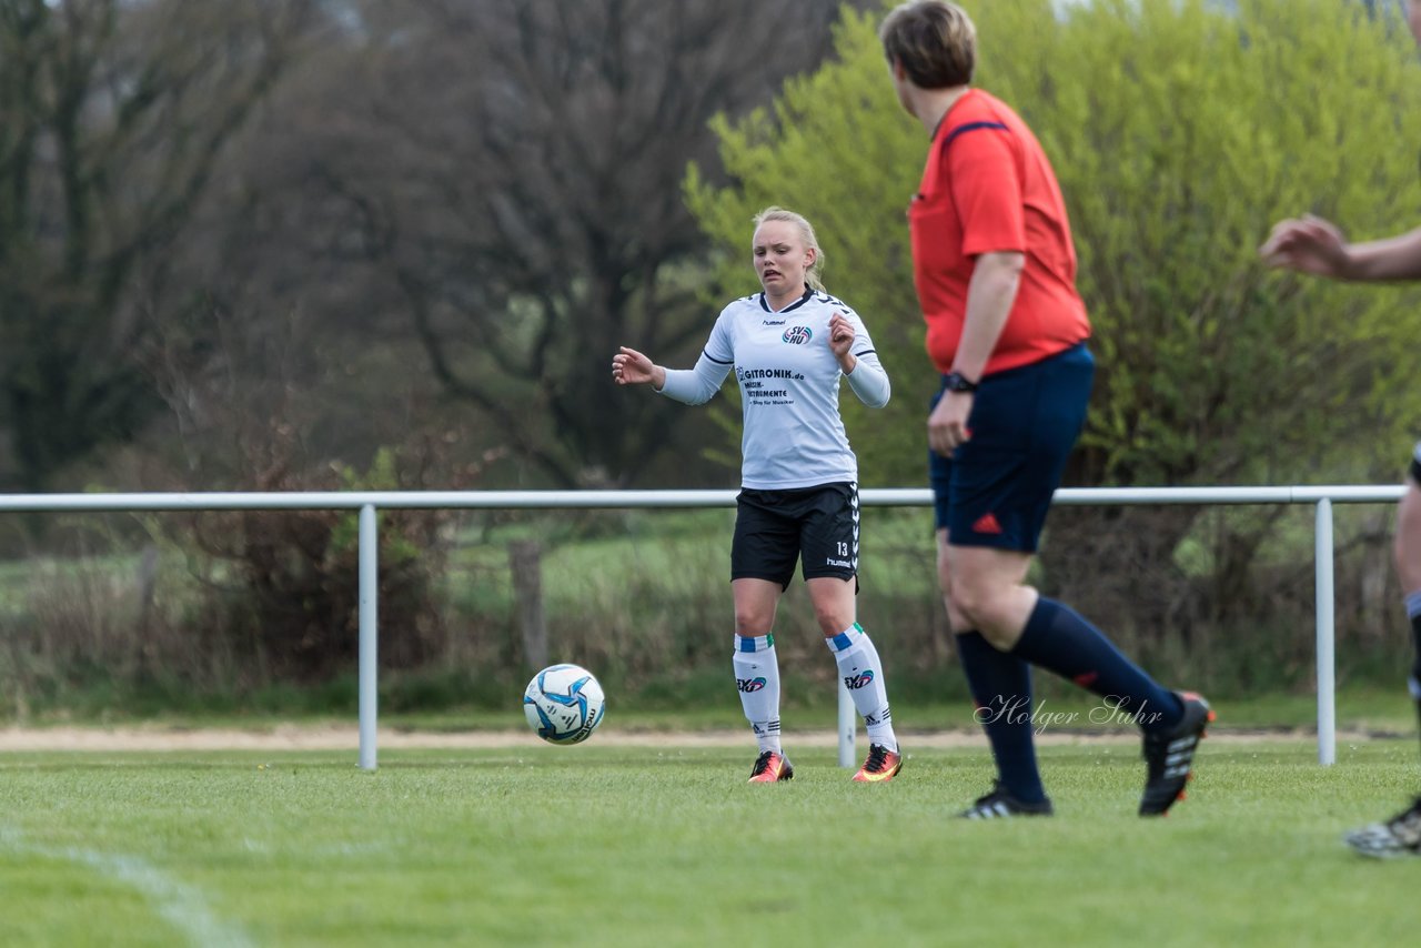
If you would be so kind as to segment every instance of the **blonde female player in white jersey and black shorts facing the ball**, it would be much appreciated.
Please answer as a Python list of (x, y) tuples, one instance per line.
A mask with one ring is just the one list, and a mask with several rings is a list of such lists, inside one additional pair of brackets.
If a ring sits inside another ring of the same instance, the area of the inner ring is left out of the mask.
[(854, 618), (858, 588), (858, 460), (838, 415), (838, 382), (870, 408), (890, 384), (863, 320), (824, 293), (824, 253), (797, 213), (767, 208), (750, 242), (763, 290), (720, 311), (695, 368), (668, 370), (637, 350), (612, 357), (618, 385), (651, 382), (701, 405), (735, 368), (745, 405), (740, 495), (730, 544), (735, 679), (760, 745), (750, 783), (794, 776), (780, 746), (774, 610), (803, 563), (824, 642), (868, 726), (868, 759), (854, 780), (891, 780), (902, 767), (882, 662)]

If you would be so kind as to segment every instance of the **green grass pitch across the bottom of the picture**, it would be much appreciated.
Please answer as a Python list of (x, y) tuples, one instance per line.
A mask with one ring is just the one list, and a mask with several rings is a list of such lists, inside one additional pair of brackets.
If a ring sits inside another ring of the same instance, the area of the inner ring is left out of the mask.
[[(793, 745), (790, 745), (793, 750)], [(1408, 739), (1205, 742), (1134, 816), (1133, 742), (1042, 749), (1052, 820), (951, 819), (978, 748), (888, 786), (830, 748), (747, 786), (746, 746), (0, 755), (0, 944), (1407, 944), (1421, 860), (1343, 830), (1417, 790)]]

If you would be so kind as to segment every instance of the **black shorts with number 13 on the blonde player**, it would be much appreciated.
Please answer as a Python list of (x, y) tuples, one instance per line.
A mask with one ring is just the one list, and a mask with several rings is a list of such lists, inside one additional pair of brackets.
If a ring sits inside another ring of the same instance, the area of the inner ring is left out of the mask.
[(806, 580), (858, 574), (858, 485), (745, 488), (735, 503), (732, 580), (769, 580), (789, 588), (797, 560)]

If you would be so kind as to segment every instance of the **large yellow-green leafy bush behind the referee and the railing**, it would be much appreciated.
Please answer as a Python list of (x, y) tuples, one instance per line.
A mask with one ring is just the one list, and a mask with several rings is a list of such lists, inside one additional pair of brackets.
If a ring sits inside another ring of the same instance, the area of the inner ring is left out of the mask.
[[(1421, 71), (1395, 17), (1341, 0), (963, 6), (978, 85), (1036, 131), (1071, 216), (1098, 374), (1067, 483), (1395, 480), (1421, 426), (1397, 358), (1421, 334), (1421, 290), (1279, 276), (1256, 252), (1303, 212), (1357, 237), (1421, 222)], [(904, 219), (928, 142), (894, 99), (877, 23), (845, 11), (837, 61), (787, 82), (773, 109), (720, 121), (732, 182), (692, 168), (686, 195), (725, 249), (728, 286), (749, 279), (759, 208), (816, 223), (830, 290), (864, 316), (894, 378), (871, 424), (845, 399), (861, 480), (902, 486), (925, 482), (935, 387)], [(1303, 623), (1290, 574), (1258, 559), (1282, 523), (1276, 510), (1059, 510), (1042, 581), (1147, 640)], [(1179, 569), (1201, 544), (1212, 569)]]

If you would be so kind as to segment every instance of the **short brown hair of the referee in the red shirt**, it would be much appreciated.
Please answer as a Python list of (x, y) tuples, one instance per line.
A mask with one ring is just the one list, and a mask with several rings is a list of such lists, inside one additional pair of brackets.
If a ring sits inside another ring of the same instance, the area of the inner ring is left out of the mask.
[(976, 68), (976, 27), (966, 11), (945, 0), (912, 0), (894, 7), (878, 41), (888, 64), (902, 64), (912, 84), (922, 90), (966, 85)]

